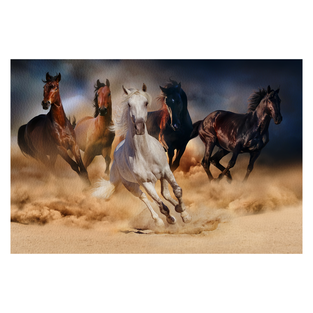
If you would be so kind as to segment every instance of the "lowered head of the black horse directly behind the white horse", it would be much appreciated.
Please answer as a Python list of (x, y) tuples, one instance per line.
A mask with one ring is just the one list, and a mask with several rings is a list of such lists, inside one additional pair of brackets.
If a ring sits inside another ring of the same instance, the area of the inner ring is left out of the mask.
[[(180, 114), (182, 112), (182, 98), (180, 96), (181, 84), (176, 81), (171, 81), (172, 86), (168, 88), (161, 87), (164, 104), (171, 118), (171, 127), (174, 131), (180, 128)], [(168, 85), (167, 85), (168, 86)]]

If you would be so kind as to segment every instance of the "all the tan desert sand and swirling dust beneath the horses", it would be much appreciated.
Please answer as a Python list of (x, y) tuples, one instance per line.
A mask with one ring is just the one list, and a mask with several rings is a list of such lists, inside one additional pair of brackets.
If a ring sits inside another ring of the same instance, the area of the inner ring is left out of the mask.
[[(174, 175), (192, 222), (184, 224), (162, 198), (177, 218), (167, 224), (151, 200), (166, 224), (159, 229), (123, 186), (108, 201), (94, 198), (60, 157), (52, 175), (11, 139), (10, 254), (303, 254), (302, 163), (256, 162), (244, 184), (249, 155), (241, 155), (232, 183), (210, 183), (202, 152), (190, 141)], [(96, 157), (88, 168), (93, 185), (104, 170), (104, 159)], [(219, 174), (213, 166), (211, 172)]]

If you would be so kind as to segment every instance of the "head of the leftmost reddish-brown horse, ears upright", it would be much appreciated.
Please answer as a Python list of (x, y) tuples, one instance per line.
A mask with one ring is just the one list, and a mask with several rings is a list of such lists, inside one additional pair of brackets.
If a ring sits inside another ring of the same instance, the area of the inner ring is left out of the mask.
[(42, 108), (48, 110), (52, 104), (59, 104), (61, 102), (59, 93), (59, 81), (61, 74), (57, 76), (50, 76), (49, 72), (46, 74), (46, 80), (43, 80), (44, 85), (44, 100), (41, 102)]

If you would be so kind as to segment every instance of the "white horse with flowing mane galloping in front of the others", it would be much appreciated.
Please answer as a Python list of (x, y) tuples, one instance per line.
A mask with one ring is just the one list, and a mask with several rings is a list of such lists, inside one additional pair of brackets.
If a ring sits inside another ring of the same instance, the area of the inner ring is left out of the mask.
[[(184, 223), (191, 222), (192, 218), (185, 211), (182, 201), (182, 188), (178, 186), (170, 170), (164, 148), (146, 131), (147, 106), (151, 102), (146, 85), (143, 84), (142, 91), (126, 89), (124, 86), (123, 90), (124, 101), (118, 107), (111, 129), (115, 131), (116, 136), (123, 136), (125, 139), (114, 151), (110, 181), (100, 180), (93, 195), (109, 199), (122, 182), (127, 190), (146, 204), (156, 225), (164, 227), (162, 219), (152, 209), (146, 194), (139, 189), (140, 185), (144, 187), (159, 206), (161, 213), (166, 216), (167, 223), (175, 224), (176, 218), (170, 215), (169, 209), (156, 193), (155, 184), (160, 179), (162, 196), (175, 206), (176, 212), (181, 213)], [(168, 183), (172, 186), (178, 203), (171, 198)]]

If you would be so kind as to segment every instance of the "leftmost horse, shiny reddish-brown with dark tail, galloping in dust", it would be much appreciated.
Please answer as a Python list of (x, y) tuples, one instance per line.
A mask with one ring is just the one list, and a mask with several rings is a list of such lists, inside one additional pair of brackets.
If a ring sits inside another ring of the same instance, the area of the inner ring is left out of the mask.
[[(44, 100), (41, 105), (44, 110), (49, 107), (51, 109), (47, 115), (40, 114), (18, 129), (18, 146), (25, 156), (40, 160), (53, 171), (59, 154), (81, 179), (91, 185), (76, 143), (73, 126), (64, 113), (59, 92), (60, 80), (60, 73), (57, 76), (50, 76), (49, 72), (46, 74), (46, 80), (43, 80)], [(77, 163), (69, 157), (67, 150), (73, 153)]]

